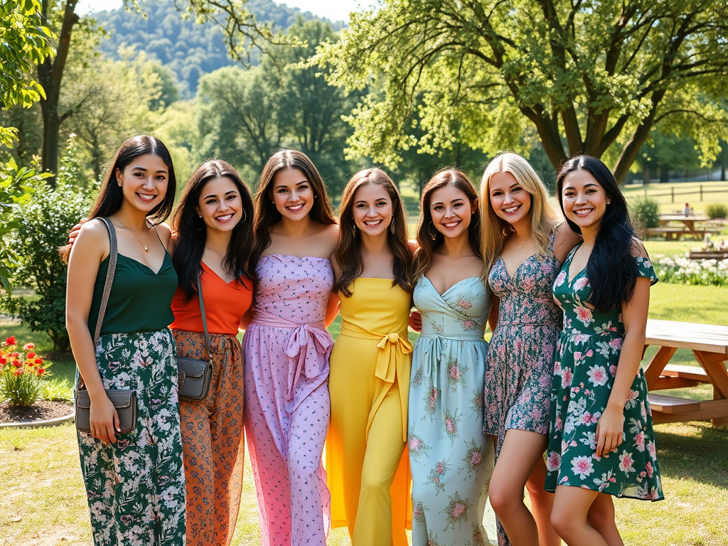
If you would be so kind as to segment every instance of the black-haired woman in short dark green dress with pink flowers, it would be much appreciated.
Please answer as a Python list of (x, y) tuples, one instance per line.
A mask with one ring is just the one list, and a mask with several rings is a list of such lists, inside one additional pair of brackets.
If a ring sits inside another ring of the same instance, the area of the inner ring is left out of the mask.
[(612, 522), (602, 527), (588, 516), (607, 495), (663, 498), (640, 368), (649, 287), (657, 276), (604, 163), (574, 157), (561, 169), (557, 189), (569, 226), (584, 242), (553, 286), (564, 325), (547, 452), (546, 489), (555, 491), (551, 521), (569, 545), (621, 545)]

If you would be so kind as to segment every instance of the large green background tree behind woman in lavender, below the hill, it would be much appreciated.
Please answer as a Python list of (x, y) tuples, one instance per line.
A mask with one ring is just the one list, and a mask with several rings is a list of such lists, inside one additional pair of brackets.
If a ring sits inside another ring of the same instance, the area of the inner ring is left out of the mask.
[(202, 77), (197, 94), (197, 128), (203, 137), (202, 157), (225, 157), (248, 178), (282, 146), (311, 157), (332, 191), (344, 186), (352, 172), (343, 149), (349, 128), (341, 116), (352, 98), (328, 85), (320, 68), (306, 67), (318, 44), (333, 41), (331, 25), (317, 20), (290, 27), (298, 46), (272, 52), (248, 71), (220, 68)]

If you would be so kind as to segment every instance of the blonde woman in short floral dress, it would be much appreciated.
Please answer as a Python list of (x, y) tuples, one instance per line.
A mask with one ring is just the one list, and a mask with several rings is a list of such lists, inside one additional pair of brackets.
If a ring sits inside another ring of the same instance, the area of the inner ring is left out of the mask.
[[(562, 322), (551, 287), (577, 237), (549, 202), (534, 168), (518, 154), (491, 161), (480, 196), (483, 261), (494, 295), (491, 318), (497, 314), (485, 376), (483, 432), (497, 438), (488, 496), (499, 518), (499, 544), (510, 539), (513, 545), (558, 545), (543, 460)], [(523, 504), (524, 486), (533, 515)]]

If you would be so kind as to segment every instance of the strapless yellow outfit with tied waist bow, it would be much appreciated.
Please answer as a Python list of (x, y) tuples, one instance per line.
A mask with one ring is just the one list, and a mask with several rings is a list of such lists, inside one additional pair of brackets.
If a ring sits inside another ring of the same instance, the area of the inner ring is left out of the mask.
[(391, 279), (358, 278), (341, 296), (331, 352), (326, 472), (331, 523), (353, 546), (407, 546), (411, 529), (407, 404), (412, 295)]

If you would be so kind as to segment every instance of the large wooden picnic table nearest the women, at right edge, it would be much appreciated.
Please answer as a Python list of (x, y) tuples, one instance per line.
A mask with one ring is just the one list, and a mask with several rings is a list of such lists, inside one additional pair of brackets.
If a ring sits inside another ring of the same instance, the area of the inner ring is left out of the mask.
[[(728, 326), (647, 320), (645, 349), (659, 348), (644, 369), (650, 391), (681, 389), (709, 383), (713, 400), (689, 400), (649, 395), (652, 419), (657, 423), (711, 420), (713, 426), (728, 424)], [(697, 366), (670, 365), (677, 349), (690, 349)]]

